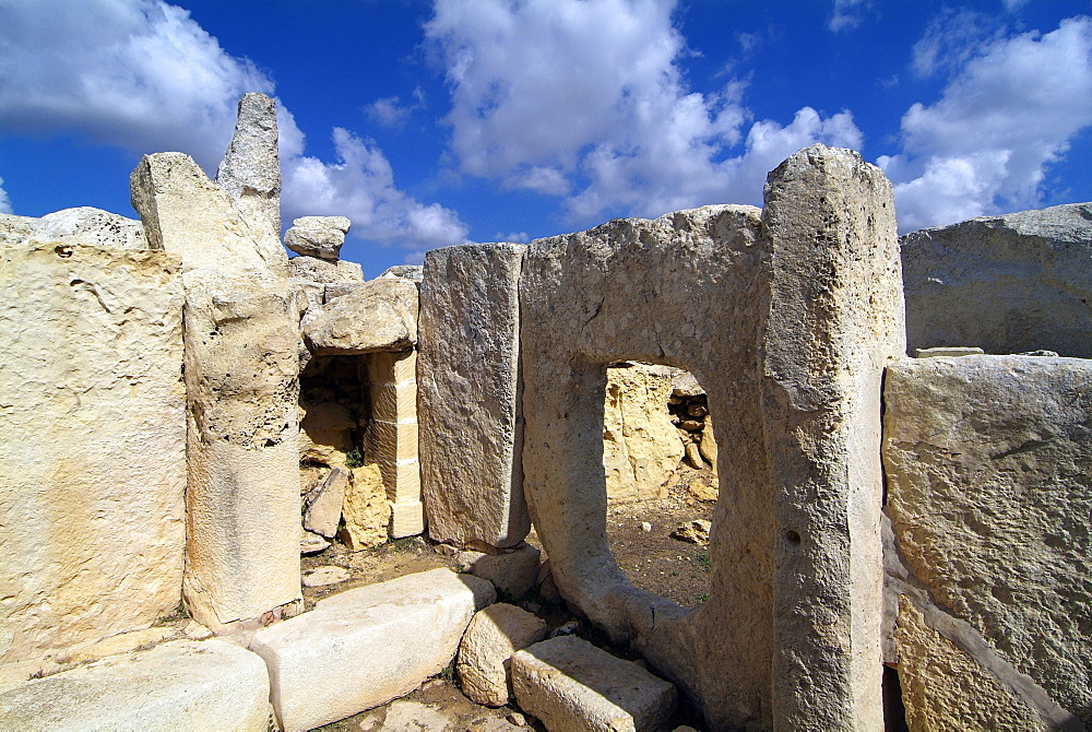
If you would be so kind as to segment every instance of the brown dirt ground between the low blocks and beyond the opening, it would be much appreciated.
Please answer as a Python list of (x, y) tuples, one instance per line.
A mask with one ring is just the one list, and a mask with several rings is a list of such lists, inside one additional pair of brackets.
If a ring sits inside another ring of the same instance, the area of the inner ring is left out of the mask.
[[(713, 504), (698, 500), (689, 486), (696, 486), (698, 495), (708, 495), (713, 483), (710, 471), (680, 469), (679, 480), (670, 488), (668, 497), (636, 504), (608, 506), (607, 538), (610, 551), (618, 565), (638, 587), (661, 594), (678, 604), (692, 607), (708, 598), (709, 592), (709, 548), (703, 544), (688, 543), (672, 538), (678, 527), (695, 519), (710, 520)], [(702, 492), (700, 486), (705, 486)], [(648, 530), (646, 530), (648, 529)], [(532, 531), (527, 541), (541, 544)], [(321, 588), (304, 588), (305, 606), (309, 610), (318, 600), (345, 590), (394, 579), (417, 571), (437, 567), (450, 567), (459, 571), (454, 556), (440, 554), (425, 539), (413, 536), (387, 542), (372, 550), (348, 552), (342, 544), (312, 556), (302, 557), (305, 571), (334, 565), (347, 569), (351, 578), (336, 585)], [(586, 621), (573, 616), (565, 605), (549, 605), (541, 598), (529, 598), (521, 606), (543, 617), (551, 631), (574, 631), (575, 635), (616, 656), (627, 659), (638, 658), (628, 648), (612, 647), (605, 636), (591, 627)], [(558, 630), (560, 628), (560, 630)], [(512, 705), (490, 709), (474, 704), (459, 690), (459, 678), (453, 664), (440, 675), (426, 681), (416, 690), (403, 697), (404, 700), (419, 703), (427, 707), (432, 723), (443, 718), (442, 730), (436, 732), (511, 732), (512, 730), (536, 730), (544, 732), (541, 722), (520, 712)], [(395, 701), (396, 703), (396, 701)], [(387, 732), (385, 719), (392, 705), (384, 705), (328, 724), (321, 730), (328, 732)], [(415, 707), (416, 708), (416, 707)], [(700, 718), (685, 701), (673, 724), (688, 724), (701, 730)], [(423, 730), (428, 727), (413, 725), (407, 729)]]

